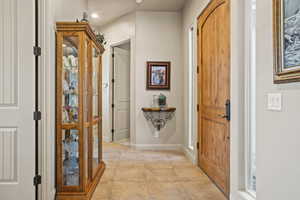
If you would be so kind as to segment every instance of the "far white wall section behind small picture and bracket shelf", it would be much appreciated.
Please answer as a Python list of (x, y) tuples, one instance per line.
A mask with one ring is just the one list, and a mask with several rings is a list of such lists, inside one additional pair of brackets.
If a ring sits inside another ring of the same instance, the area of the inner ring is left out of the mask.
[[(171, 90), (146, 90), (146, 62), (171, 61)], [(178, 12), (136, 13), (136, 144), (160, 145), (183, 143), (183, 70), (182, 19)], [(177, 108), (176, 118), (153, 137), (152, 125), (144, 118), (142, 107), (149, 107), (152, 95), (163, 93), (169, 106)]]

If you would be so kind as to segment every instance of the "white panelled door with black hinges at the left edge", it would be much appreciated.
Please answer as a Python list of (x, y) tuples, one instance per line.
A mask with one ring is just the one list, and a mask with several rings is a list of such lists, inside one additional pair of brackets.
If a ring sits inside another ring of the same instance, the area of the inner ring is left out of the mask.
[(34, 0), (0, 1), (0, 199), (33, 200)]

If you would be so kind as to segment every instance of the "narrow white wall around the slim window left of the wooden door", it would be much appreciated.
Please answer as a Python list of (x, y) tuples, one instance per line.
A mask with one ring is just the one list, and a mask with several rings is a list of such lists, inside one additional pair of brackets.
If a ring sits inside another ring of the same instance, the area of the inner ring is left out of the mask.
[[(197, 160), (197, 153), (196, 153), (196, 141), (197, 141), (197, 75), (196, 75), (196, 70), (197, 70), (197, 18), (202, 12), (202, 10), (205, 8), (205, 6), (209, 3), (210, 0), (188, 0), (182, 10), (182, 17), (183, 17), (183, 26), (182, 26), (182, 31), (183, 31), (183, 68), (184, 68), (184, 148), (186, 149), (186, 152), (188, 152), (188, 155), (190, 158), (193, 160), (195, 163)], [(194, 151), (190, 151), (188, 149), (188, 105), (189, 105), (189, 29), (191, 27), (194, 27), (194, 85), (195, 85), (195, 90), (194, 90)]]

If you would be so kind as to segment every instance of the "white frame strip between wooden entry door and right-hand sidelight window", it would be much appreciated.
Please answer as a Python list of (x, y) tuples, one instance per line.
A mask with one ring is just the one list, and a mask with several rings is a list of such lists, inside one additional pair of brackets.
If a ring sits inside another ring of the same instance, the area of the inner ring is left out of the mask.
[[(231, 194), (233, 200), (255, 200), (246, 192), (250, 90), (251, 1), (231, 0)], [(244, 41), (244, 42), (240, 42)]]

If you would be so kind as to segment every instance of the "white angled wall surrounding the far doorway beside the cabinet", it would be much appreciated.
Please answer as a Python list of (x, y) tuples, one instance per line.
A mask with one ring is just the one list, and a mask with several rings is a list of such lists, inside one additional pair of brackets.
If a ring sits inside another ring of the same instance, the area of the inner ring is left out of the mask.
[[(104, 140), (106, 142), (111, 141), (111, 129), (112, 129), (112, 123), (111, 123), (111, 79), (112, 79), (112, 49), (111, 47), (120, 43), (123, 43), (124, 41), (130, 40), (131, 42), (131, 76), (134, 76), (134, 58), (135, 58), (135, 13), (131, 13), (128, 15), (125, 15), (105, 26), (98, 27), (98, 31), (104, 34), (105, 39), (107, 40), (107, 45), (105, 46), (105, 52), (102, 57), (103, 62), (103, 72), (102, 72), (102, 82), (103, 84), (107, 84), (107, 88), (103, 88), (103, 135)], [(134, 81), (131, 80), (131, 87), (134, 86)], [(131, 102), (134, 104), (134, 91), (131, 91)], [(131, 117), (134, 117), (134, 107), (130, 108), (131, 110)], [(133, 121), (131, 121), (131, 139), (134, 140), (134, 124)], [(132, 129), (133, 128), (133, 129)]]

